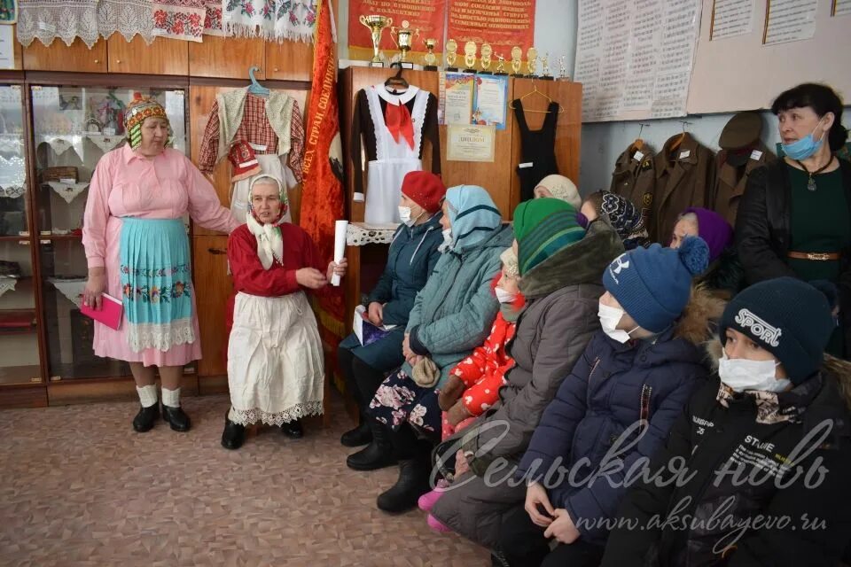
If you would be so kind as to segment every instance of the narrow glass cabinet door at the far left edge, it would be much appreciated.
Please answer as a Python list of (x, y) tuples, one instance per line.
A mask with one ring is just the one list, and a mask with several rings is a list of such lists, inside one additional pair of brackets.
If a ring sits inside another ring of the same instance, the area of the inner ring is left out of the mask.
[(21, 88), (0, 85), (0, 385), (42, 382)]

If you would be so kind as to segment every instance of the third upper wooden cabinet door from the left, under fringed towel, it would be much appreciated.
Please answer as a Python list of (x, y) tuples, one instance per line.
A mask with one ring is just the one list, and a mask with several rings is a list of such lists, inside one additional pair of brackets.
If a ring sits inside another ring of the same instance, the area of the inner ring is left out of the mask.
[(201, 43), (189, 43), (189, 74), (193, 77), (246, 79), (248, 69), (260, 67), (257, 79), (266, 78), (266, 43), (258, 37), (205, 35)]

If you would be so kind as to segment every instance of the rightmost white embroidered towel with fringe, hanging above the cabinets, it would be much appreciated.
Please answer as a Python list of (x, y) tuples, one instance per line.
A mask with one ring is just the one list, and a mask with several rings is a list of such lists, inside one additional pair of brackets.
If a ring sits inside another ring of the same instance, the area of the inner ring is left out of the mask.
[(316, 8), (312, 0), (223, 0), (225, 35), (278, 42), (310, 42)]

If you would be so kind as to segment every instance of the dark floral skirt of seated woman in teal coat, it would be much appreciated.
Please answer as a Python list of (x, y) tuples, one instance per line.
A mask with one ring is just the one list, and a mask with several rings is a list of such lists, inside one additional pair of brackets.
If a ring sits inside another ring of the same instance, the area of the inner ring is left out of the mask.
[(437, 403), (437, 390), (417, 385), (404, 370), (386, 377), (370, 402), (369, 413), (393, 431), (410, 423), (414, 429), (441, 431), (441, 407)]

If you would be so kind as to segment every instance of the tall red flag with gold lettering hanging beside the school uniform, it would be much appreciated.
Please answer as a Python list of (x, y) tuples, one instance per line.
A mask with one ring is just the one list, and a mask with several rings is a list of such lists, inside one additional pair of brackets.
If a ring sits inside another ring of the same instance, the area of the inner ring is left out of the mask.
[[(319, 253), (333, 259), (334, 222), (345, 218), (340, 115), (337, 101), (337, 54), (332, 35), (330, 2), (317, 6), (314, 41), (313, 84), (305, 124), (306, 140), (301, 190), (301, 228), (313, 238)], [(354, 276), (348, 276), (354, 277)], [(342, 338), (346, 311), (343, 288), (318, 298), (320, 326)], [(335, 349), (336, 350), (336, 349)]]

